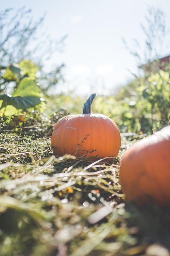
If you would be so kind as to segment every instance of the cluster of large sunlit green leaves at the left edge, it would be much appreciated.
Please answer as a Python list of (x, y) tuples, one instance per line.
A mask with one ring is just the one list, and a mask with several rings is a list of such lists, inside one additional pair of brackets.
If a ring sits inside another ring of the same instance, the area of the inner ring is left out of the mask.
[(36, 82), (38, 67), (32, 61), (23, 60), (19, 65), (10, 64), (3, 71), (2, 83), (13, 82), (14, 91), (12, 95), (0, 95), (0, 116), (10, 116), (21, 110), (36, 107), (40, 109), (43, 106), (45, 99)]

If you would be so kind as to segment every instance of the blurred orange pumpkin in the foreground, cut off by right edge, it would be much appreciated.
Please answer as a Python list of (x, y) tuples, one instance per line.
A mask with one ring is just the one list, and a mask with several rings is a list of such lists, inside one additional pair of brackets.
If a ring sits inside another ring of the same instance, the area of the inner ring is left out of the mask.
[(128, 200), (170, 205), (170, 125), (124, 153), (119, 179)]

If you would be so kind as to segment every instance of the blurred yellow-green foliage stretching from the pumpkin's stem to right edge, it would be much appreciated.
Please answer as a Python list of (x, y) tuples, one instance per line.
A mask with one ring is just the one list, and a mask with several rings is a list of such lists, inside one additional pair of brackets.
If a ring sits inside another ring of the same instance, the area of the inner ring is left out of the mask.
[(112, 118), (122, 132), (151, 134), (170, 122), (169, 92), (169, 71), (158, 70), (121, 87), (116, 96), (97, 97), (93, 110)]

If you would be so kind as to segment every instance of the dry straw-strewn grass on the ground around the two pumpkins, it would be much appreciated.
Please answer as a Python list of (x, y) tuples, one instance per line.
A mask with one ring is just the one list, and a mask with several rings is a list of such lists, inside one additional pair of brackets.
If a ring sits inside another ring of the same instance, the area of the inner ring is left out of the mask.
[(54, 157), (50, 135), (66, 113), (1, 119), (0, 255), (169, 255), (170, 209), (127, 202), (120, 159), (142, 135), (122, 133), (111, 162)]

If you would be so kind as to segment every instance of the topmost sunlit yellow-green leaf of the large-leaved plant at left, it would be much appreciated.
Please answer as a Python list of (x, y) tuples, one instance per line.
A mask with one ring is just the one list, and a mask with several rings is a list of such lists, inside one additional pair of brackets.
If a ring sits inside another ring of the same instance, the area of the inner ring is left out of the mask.
[(35, 65), (31, 60), (21, 60), (18, 65), (22, 68), (24, 75), (28, 75), (31, 78), (36, 78), (36, 73), (38, 71), (38, 66)]

